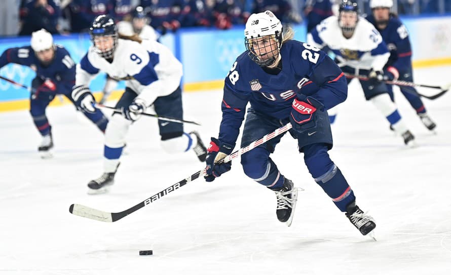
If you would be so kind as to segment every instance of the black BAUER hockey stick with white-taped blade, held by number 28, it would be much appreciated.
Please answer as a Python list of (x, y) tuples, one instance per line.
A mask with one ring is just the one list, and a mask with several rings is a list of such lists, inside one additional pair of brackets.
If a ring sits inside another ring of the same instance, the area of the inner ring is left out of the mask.
[[(231, 153), (230, 155), (226, 156), (224, 158), (224, 162), (230, 162), (233, 159), (238, 158), (239, 155), (244, 154), (245, 152), (248, 152), (250, 150), (252, 150), (253, 148), (257, 147), (258, 145), (261, 145), (265, 142), (267, 142), (270, 139), (273, 139), (277, 136), (279, 136), (280, 134), (285, 133), (286, 131), (291, 129), (291, 123), (286, 124), (285, 126), (282, 126), (278, 129), (276, 129), (274, 132), (269, 133), (267, 135), (265, 135), (264, 137), (253, 141), (251, 144)], [(123, 217), (130, 215), (131, 213), (143, 208), (144, 206), (148, 206), (149, 204), (157, 201), (158, 199), (161, 199), (163, 196), (167, 195), (168, 193), (177, 190), (178, 188), (186, 185), (187, 183), (199, 178), (199, 176), (201, 174), (205, 173), (205, 169), (198, 171), (196, 173), (194, 173), (193, 175), (182, 179), (181, 181), (169, 186), (168, 188), (164, 189), (161, 192), (156, 193), (155, 195), (153, 195), (150, 198), (145, 199), (144, 201), (140, 202), (139, 204), (124, 210), (122, 212), (117, 212), (117, 213), (111, 213), (111, 212), (105, 212), (105, 211), (100, 211), (88, 206), (84, 206), (84, 205), (79, 205), (79, 204), (72, 204), (69, 207), (69, 212), (72, 213), (73, 215), (77, 215), (80, 217), (84, 217), (84, 218), (88, 218), (88, 219), (93, 219), (93, 220), (98, 220), (98, 221), (104, 221), (104, 222), (115, 222), (117, 220), (122, 219)]]

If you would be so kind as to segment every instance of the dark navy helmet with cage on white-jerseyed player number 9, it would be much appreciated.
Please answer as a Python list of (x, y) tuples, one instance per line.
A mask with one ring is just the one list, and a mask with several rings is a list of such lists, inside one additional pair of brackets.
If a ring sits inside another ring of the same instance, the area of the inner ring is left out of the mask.
[[(105, 59), (110, 59), (113, 57), (116, 47), (118, 45), (118, 27), (115, 20), (109, 15), (99, 15), (92, 22), (89, 28), (89, 34), (91, 35), (91, 40), (94, 43), (94, 48), (96, 53)], [(112, 37), (113, 43), (109, 48), (98, 48), (101, 38)]]

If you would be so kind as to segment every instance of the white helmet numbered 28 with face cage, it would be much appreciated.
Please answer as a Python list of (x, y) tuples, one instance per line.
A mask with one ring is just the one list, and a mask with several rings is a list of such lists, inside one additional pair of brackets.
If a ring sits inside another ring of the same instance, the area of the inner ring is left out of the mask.
[[(260, 53), (262, 47), (255, 48), (253, 39), (271, 35), (273, 50), (270, 52)], [(254, 13), (247, 19), (244, 29), (245, 46), (248, 50), (249, 57), (260, 66), (272, 65), (279, 56), (282, 47), (282, 23), (271, 11), (262, 13)], [(256, 50), (258, 52), (256, 52)], [(265, 58), (268, 57), (269, 58)]]

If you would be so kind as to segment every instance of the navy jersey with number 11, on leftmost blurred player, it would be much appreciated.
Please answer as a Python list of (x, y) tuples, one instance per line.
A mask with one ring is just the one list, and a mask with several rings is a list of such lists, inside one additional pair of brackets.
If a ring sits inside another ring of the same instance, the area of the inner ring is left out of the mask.
[(55, 47), (55, 57), (48, 66), (42, 65), (30, 46), (10, 48), (3, 52), (0, 56), (0, 68), (9, 63), (31, 67), (36, 71), (37, 77), (51, 80), (56, 85), (58, 93), (67, 94), (75, 85), (75, 63), (62, 46)]

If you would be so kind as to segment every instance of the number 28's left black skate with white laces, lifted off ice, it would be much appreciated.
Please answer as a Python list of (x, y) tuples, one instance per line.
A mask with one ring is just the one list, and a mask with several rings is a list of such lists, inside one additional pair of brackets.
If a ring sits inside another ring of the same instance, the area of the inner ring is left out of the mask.
[(285, 178), (282, 188), (271, 190), (276, 193), (277, 219), (280, 222), (286, 222), (287, 226), (290, 226), (294, 216), (294, 208), (296, 207), (297, 188), (293, 186), (291, 180)]

